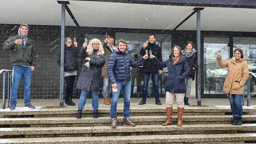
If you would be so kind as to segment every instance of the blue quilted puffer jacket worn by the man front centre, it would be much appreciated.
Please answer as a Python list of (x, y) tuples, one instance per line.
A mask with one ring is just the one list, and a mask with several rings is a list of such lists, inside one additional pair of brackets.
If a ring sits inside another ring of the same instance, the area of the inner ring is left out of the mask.
[(130, 67), (139, 67), (143, 60), (134, 61), (128, 52), (114, 51), (108, 60), (108, 77), (111, 84), (131, 81)]

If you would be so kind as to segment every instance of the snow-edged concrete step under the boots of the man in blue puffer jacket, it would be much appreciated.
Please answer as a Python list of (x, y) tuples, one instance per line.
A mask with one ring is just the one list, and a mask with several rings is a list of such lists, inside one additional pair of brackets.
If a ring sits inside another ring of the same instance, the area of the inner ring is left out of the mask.
[(256, 124), (184, 124), (177, 125), (137, 125), (135, 127), (117, 126), (74, 126), (74, 127), (17, 127), (0, 128), (0, 138), (33, 138), (33, 137), (84, 137), (114, 135), (147, 135), (147, 134), (217, 134), (256, 132)]

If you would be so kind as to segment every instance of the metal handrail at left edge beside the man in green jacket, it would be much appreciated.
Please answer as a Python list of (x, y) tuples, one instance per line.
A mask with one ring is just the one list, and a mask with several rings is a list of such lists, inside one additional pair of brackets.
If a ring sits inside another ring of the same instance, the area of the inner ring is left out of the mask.
[(1, 69), (0, 74), (3, 73), (3, 94), (2, 94), (2, 109), (5, 109), (5, 76), (6, 74), (8, 75), (8, 85), (7, 85), (7, 100), (8, 100), (8, 106), (10, 103), (10, 98), (11, 98), (11, 87), (12, 87), (12, 70), (7, 70), (7, 69)]

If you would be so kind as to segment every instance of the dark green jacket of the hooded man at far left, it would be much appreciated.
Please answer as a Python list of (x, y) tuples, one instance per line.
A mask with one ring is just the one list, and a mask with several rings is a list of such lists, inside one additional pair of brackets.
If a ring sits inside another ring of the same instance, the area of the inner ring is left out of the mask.
[(20, 36), (12, 36), (8, 38), (3, 45), (5, 51), (11, 51), (10, 59), (12, 66), (27, 65), (35, 66), (36, 54), (34, 49), (34, 41), (27, 39), (26, 46), (23, 44), (15, 44), (16, 39), (21, 39)]

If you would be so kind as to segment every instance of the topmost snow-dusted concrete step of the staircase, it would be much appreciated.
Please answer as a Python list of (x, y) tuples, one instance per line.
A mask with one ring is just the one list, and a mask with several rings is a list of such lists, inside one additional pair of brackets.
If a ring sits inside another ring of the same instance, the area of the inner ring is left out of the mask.
[[(99, 109), (99, 116), (109, 116), (109, 108)], [(131, 116), (163, 116), (166, 115), (165, 108), (145, 108), (135, 107), (130, 110)], [(230, 107), (185, 107), (184, 115), (231, 115)], [(244, 115), (256, 114), (256, 108), (244, 107)], [(177, 108), (173, 109), (173, 113), (177, 114)], [(0, 117), (75, 117), (77, 114), (77, 108), (38, 108), (37, 109), (23, 109), (17, 108), (16, 110), (1, 109)], [(93, 114), (92, 109), (84, 109), (83, 116), (91, 117)], [(117, 115), (123, 115), (123, 108), (117, 109)]]

